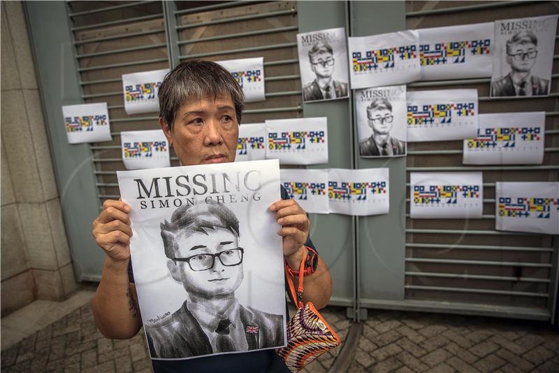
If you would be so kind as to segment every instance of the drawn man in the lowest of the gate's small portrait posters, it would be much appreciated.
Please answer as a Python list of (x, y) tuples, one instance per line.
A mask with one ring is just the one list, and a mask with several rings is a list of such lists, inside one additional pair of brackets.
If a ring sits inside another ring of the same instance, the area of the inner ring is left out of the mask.
[(405, 142), (395, 139), (390, 134), (394, 116), (389, 100), (379, 98), (372, 101), (367, 107), (367, 118), (368, 125), (372, 129), (372, 135), (359, 142), (361, 156), (393, 157), (394, 155), (405, 155)]

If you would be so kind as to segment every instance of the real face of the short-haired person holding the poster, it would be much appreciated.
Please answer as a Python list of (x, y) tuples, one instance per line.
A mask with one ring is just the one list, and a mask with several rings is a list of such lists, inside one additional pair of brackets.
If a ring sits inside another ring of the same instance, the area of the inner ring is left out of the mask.
[(230, 97), (184, 102), (173, 129), (161, 119), (159, 123), (184, 166), (235, 160), (239, 124)]

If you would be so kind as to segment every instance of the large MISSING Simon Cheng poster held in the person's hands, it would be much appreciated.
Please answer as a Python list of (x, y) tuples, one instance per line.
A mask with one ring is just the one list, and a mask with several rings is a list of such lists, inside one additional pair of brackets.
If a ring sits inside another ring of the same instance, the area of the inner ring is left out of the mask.
[(277, 160), (117, 171), (152, 359), (286, 345)]

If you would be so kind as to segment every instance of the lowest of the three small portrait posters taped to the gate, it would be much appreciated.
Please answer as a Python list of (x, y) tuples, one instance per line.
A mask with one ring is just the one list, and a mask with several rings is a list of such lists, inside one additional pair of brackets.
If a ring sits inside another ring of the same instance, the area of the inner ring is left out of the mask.
[(400, 157), (406, 155), (406, 86), (356, 90), (359, 155)]

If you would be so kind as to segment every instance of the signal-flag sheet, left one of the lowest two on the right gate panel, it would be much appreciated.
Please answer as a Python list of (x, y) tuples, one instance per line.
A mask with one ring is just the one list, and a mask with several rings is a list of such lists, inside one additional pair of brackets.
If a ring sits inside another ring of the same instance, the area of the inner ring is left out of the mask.
[(479, 219), (484, 208), (481, 172), (412, 172), (409, 176), (412, 219)]

